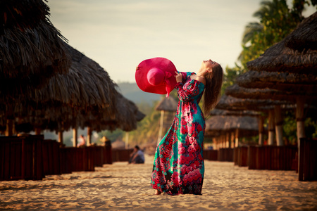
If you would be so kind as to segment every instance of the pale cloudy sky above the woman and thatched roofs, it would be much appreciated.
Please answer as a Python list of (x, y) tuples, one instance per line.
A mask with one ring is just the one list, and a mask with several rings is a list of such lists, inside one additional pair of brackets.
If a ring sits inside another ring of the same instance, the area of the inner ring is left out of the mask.
[[(114, 82), (135, 82), (142, 60), (164, 57), (182, 72), (211, 58), (234, 67), (244, 27), (261, 0), (49, 0), (50, 20), (68, 44)], [(313, 13), (308, 11), (308, 13)]]

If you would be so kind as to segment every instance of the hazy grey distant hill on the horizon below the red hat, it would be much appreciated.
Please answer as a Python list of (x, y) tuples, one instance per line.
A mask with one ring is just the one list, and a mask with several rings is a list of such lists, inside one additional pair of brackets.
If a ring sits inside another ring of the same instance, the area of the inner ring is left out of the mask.
[(154, 101), (159, 101), (161, 99), (160, 94), (151, 94), (142, 91), (137, 87), (136, 83), (120, 82), (118, 83), (118, 91), (134, 103), (149, 103), (153, 105)]

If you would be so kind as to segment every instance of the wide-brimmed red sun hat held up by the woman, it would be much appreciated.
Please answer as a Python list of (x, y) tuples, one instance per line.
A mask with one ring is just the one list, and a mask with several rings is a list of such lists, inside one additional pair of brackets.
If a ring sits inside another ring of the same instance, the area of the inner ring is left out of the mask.
[(167, 58), (150, 58), (137, 66), (135, 81), (142, 91), (166, 94), (168, 97), (176, 84), (175, 65)]

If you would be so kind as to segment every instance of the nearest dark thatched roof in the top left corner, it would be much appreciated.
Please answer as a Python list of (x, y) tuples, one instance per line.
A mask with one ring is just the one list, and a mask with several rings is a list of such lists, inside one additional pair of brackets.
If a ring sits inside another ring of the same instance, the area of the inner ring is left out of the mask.
[(24, 85), (68, 72), (65, 38), (47, 18), (49, 7), (42, 0), (0, 4), (0, 94), (23, 94)]

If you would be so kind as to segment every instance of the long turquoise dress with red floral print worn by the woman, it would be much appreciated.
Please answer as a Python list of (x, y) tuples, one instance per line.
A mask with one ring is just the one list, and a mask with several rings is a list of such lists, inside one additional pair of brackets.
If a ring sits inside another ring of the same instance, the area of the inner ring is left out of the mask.
[(199, 101), (204, 84), (181, 72), (178, 110), (172, 126), (156, 148), (151, 187), (170, 195), (201, 194), (204, 181), (204, 115)]

